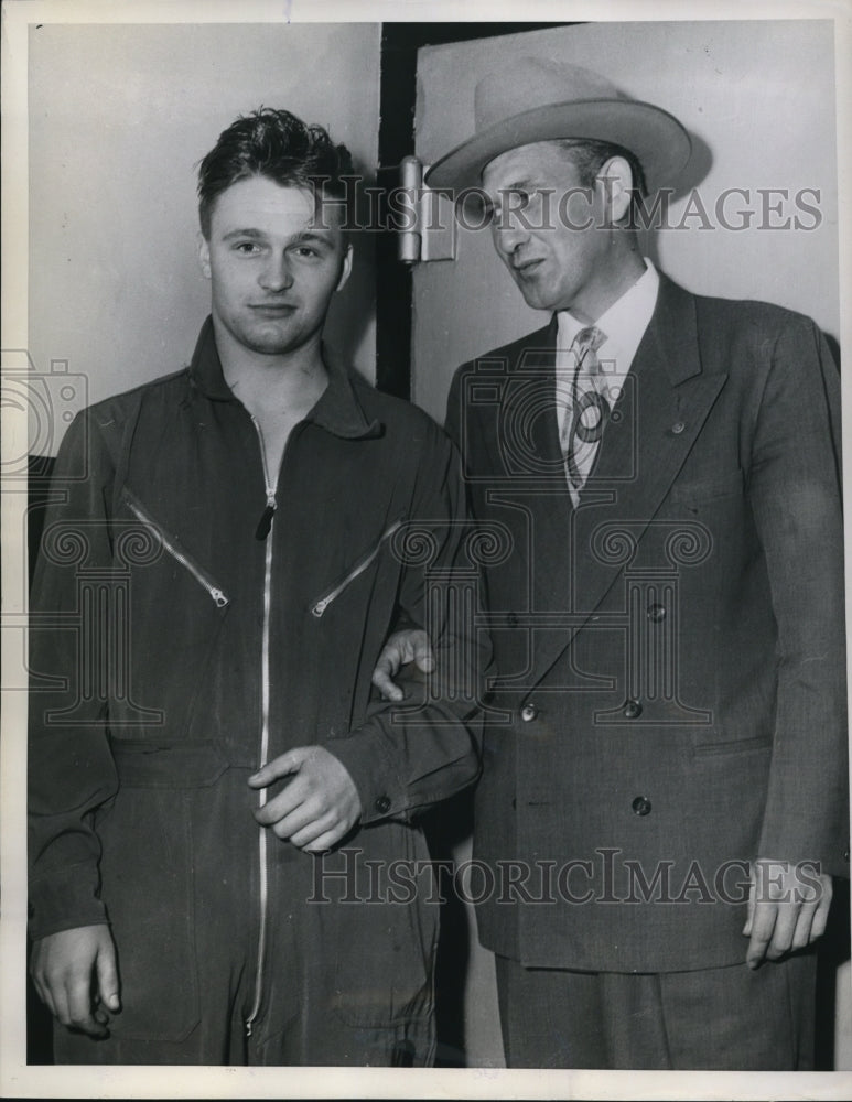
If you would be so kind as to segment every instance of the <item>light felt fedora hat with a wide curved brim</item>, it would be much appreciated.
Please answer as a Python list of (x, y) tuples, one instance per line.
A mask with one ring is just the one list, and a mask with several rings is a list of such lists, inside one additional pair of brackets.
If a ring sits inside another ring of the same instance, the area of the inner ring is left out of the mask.
[(430, 187), (461, 191), (506, 150), (559, 138), (587, 138), (629, 150), (654, 192), (680, 172), (691, 142), (678, 120), (653, 104), (630, 99), (597, 73), (563, 62), (525, 57), (489, 73), (474, 93), (476, 132), (435, 161)]

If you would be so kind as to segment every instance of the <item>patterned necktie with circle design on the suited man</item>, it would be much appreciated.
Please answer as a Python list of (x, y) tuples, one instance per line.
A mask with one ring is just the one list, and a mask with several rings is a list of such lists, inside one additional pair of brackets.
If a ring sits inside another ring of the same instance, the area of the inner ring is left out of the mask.
[(606, 334), (590, 325), (580, 329), (571, 345), (574, 356), (571, 404), (565, 411), (561, 443), (574, 506), (579, 504), (580, 490), (592, 473), (601, 436), (610, 418), (610, 406), (594, 383), (601, 370), (597, 349), (605, 339)]

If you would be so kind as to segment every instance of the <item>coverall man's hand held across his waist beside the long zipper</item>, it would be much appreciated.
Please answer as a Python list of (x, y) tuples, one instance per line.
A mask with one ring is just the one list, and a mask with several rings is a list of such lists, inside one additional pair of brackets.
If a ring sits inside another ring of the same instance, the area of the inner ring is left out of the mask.
[(287, 788), (258, 808), (255, 819), (305, 853), (330, 850), (360, 818), (355, 781), (324, 746), (296, 746), (265, 765), (248, 782), (266, 788), (290, 774), (294, 776)]

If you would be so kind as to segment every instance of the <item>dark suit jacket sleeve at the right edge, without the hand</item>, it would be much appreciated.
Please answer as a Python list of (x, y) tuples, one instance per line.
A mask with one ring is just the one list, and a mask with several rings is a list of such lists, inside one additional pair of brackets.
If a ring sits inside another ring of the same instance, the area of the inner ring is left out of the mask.
[(779, 333), (748, 493), (778, 630), (769, 787), (756, 856), (849, 875), (840, 381), (816, 325)]

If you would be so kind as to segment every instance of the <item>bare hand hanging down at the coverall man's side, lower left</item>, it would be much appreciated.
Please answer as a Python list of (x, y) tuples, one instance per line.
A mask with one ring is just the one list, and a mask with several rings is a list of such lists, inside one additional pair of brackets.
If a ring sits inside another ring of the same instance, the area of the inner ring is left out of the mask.
[(64, 1026), (90, 1037), (109, 1036), (104, 1007), (117, 1013), (121, 1004), (108, 926), (78, 926), (41, 938), (33, 946), (30, 972), (39, 996)]

